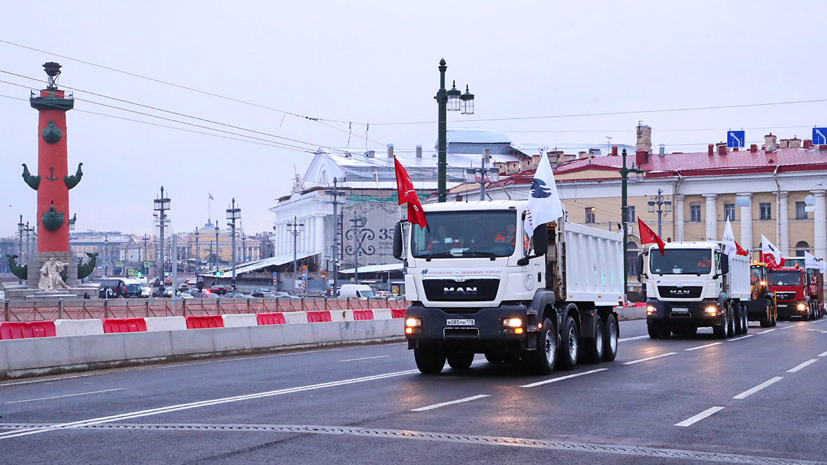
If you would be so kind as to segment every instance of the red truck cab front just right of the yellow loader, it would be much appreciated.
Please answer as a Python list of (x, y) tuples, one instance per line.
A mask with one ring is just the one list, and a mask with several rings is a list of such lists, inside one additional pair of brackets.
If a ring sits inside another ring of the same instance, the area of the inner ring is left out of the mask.
[[(778, 317), (782, 319), (818, 319), (824, 312), (823, 288), (818, 289), (815, 273), (804, 266), (777, 266), (767, 271), (770, 292), (775, 295)], [(821, 292), (819, 292), (821, 290)]]

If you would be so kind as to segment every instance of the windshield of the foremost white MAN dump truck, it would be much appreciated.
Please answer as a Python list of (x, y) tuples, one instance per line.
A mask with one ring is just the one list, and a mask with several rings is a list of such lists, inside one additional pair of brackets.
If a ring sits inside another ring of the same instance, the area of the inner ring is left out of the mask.
[(411, 234), (416, 258), (511, 256), (516, 244), (528, 245), (514, 210), (428, 213), (427, 219), (428, 228), (414, 225)]

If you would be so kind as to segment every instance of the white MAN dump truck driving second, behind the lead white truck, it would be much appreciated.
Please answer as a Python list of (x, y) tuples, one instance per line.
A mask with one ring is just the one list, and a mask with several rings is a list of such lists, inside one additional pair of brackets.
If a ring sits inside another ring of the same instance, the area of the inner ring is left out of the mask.
[(649, 337), (689, 336), (712, 327), (717, 338), (748, 331), (749, 260), (730, 260), (719, 242), (670, 242), (650, 247), (646, 267)]

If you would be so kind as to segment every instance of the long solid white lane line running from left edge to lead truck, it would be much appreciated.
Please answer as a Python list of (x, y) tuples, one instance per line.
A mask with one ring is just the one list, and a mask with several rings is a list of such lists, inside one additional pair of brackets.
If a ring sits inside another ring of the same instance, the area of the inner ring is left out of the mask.
[(261, 397), (270, 397), (272, 395), (292, 394), (294, 392), (312, 391), (312, 390), (315, 390), (315, 389), (323, 389), (325, 387), (333, 387), (333, 386), (345, 386), (345, 385), (348, 385), (348, 384), (365, 382), (365, 381), (381, 380), (381, 379), (390, 378), (390, 377), (394, 377), (394, 376), (412, 375), (412, 374), (418, 373), (418, 372), (419, 372), (418, 370), (407, 370), (407, 371), (404, 371), (404, 372), (391, 372), (391, 373), (384, 373), (384, 374), (381, 374), (381, 375), (363, 376), (361, 378), (351, 378), (351, 379), (348, 379), (348, 380), (330, 381), (330, 382), (326, 382), (326, 383), (314, 384), (314, 385), (308, 385), (308, 386), (289, 387), (289, 388), (280, 389), (280, 390), (277, 390), (277, 391), (265, 391), (265, 392), (257, 392), (255, 394), (235, 395), (235, 396), (232, 396), (232, 397), (223, 397), (221, 399), (201, 400), (201, 401), (198, 401), (198, 402), (190, 402), (189, 404), (167, 405), (165, 407), (158, 407), (158, 408), (155, 408), (155, 409), (137, 410), (137, 411), (134, 411), (134, 412), (127, 412), (125, 414), (110, 415), (110, 416), (104, 416), (104, 417), (92, 418), (92, 419), (84, 419), (84, 420), (80, 420), (80, 421), (73, 421), (71, 423), (55, 424), (54, 426), (50, 426), (49, 428), (7, 431), (6, 433), (0, 433), (0, 439), (17, 438), (18, 436), (27, 436), (29, 434), (40, 434), (40, 433), (45, 433), (47, 431), (54, 431), (55, 429), (74, 428), (76, 426), (81, 426), (81, 425), (110, 423), (112, 421), (118, 421), (118, 420), (122, 420), (122, 419), (131, 419), (131, 418), (139, 418), (139, 417), (143, 417), (143, 416), (159, 415), (159, 414), (165, 414), (165, 413), (169, 413), (169, 412), (175, 412), (175, 411), (178, 411), (178, 410), (188, 410), (188, 409), (194, 409), (194, 408), (197, 408), (197, 407), (206, 407), (208, 405), (227, 404), (229, 402), (237, 402), (239, 400), (259, 399)]

